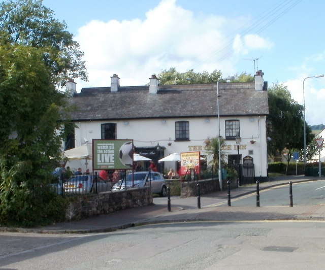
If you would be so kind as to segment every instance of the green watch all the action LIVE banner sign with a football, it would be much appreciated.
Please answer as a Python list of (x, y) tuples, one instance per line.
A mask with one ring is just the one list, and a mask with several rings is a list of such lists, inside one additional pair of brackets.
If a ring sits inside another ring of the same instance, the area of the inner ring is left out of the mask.
[(129, 170), (133, 167), (133, 140), (92, 140), (93, 170)]

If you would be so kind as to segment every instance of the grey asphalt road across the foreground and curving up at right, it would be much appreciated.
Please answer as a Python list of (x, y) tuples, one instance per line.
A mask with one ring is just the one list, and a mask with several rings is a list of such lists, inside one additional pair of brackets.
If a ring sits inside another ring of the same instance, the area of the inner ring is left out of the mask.
[[(323, 204), (324, 192), (325, 181), (295, 184), (294, 204)], [(260, 197), (261, 207), (288, 206), (288, 186)], [(232, 206), (255, 206), (255, 199), (233, 199)], [(321, 269), (324, 250), (323, 221), (182, 222), (94, 234), (2, 232), (0, 269)]]

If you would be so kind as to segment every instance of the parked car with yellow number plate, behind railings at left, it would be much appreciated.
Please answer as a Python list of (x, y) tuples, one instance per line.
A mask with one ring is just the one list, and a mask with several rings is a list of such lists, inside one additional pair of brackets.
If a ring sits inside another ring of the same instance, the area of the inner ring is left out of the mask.
[(68, 194), (84, 194), (94, 192), (96, 186), (98, 192), (111, 191), (113, 183), (103, 181), (96, 183), (94, 175), (76, 175), (63, 183), (63, 190)]

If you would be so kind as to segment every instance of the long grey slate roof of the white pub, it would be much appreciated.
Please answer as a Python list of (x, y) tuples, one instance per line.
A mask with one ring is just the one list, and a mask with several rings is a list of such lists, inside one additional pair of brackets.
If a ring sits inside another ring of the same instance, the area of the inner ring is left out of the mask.
[[(144, 118), (212, 117), (217, 115), (216, 84), (82, 88), (71, 104), (77, 106), (74, 121)], [(220, 116), (267, 115), (267, 91), (255, 91), (254, 83), (219, 84)]]

